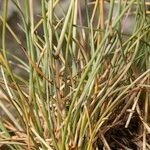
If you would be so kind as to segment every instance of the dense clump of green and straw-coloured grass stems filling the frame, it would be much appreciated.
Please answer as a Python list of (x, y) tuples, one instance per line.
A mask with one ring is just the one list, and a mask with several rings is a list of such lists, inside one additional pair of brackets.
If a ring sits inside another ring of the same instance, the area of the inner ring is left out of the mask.
[[(7, 118), (0, 120), (0, 146), (149, 149), (150, 18), (144, 1), (117, 1), (116, 10), (112, 0), (106, 21), (103, 1), (85, 0), (83, 14), (81, 3), (70, 0), (65, 17), (59, 19), (54, 11), (58, 1), (42, 0), (37, 23), (33, 1), (25, 0), (25, 12), (19, 1), (12, 1), (22, 19), (26, 44), (7, 23), (5, 0), (0, 107)], [(115, 20), (113, 9), (118, 11)], [(134, 29), (127, 35), (122, 22), (130, 13)], [(6, 30), (28, 62), (7, 51)], [(9, 55), (28, 80), (13, 71)], [(15, 113), (5, 103), (12, 104)]]

